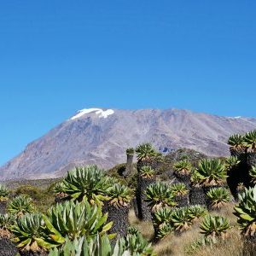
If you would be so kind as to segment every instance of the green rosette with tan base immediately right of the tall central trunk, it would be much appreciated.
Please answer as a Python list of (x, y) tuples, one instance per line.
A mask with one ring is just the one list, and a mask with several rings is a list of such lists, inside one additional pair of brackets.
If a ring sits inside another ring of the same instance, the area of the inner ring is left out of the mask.
[(153, 211), (159, 207), (174, 207), (174, 195), (170, 184), (153, 183), (145, 191), (146, 200)]

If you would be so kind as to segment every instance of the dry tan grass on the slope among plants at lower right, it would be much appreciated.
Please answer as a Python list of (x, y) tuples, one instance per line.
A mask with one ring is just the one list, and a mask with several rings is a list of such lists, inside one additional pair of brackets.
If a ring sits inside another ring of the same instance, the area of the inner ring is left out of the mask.
[[(236, 216), (234, 212), (234, 203), (228, 204), (218, 212), (210, 212), (213, 215), (220, 215), (230, 220), (231, 229), (228, 232), (228, 237), (225, 241), (219, 242), (212, 247), (202, 247), (201, 250), (197, 251), (194, 255), (196, 256), (241, 256), (242, 253), (242, 241), (240, 231), (236, 226)], [(136, 218), (133, 211), (130, 212), (129, 221), (132, 226), (135, 226), (140, 230), (143, 236), (150, 241), (154, 236), (153, 225), (150, 222), (143, 222)], [(191, 230), (183, 232), (181, 236), (166, 236), (164, 239), (154, 245), (154, 252), (160, 256), (184, 256), (188, 255), (185, 253), (185, 247), (197, 238), (201, 237), (200, 233), (201, 219), (196, 222)], [(256, 254), (255, 254), (256, 255)]]

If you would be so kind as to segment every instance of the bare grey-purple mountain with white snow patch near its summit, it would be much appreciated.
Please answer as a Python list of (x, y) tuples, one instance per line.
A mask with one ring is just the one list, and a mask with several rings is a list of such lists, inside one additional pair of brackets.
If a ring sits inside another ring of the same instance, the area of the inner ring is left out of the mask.
[(79, 111), (0, 168), (0, 179), (60, 177), (73, 166), (109, 168), (125, 162), (125, 149), (151, 142), (160, 151), (192, 148), (228, 155), (227, 138), (256, 128), (256, 119), (228, 118), (188, 110)]

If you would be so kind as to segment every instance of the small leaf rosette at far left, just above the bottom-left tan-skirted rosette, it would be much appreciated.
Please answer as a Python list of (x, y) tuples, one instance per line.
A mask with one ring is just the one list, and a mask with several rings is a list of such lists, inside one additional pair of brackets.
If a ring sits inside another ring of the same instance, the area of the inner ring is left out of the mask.
[(32, 204), (32, 199), (27, 195), (16, 196), (8, 205), (8, 212), (16, 217), (20, 217), (26, 213), (32, 213), (34, 211), (35, 207)]

